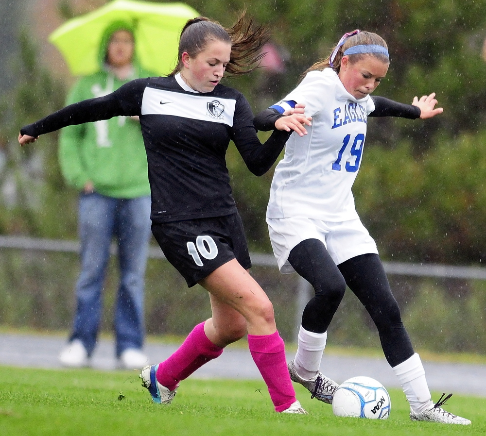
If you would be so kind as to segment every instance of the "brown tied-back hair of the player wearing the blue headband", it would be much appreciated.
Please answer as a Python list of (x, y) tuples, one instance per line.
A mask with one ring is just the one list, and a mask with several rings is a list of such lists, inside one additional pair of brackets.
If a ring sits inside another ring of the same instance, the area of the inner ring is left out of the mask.
[[(336, 56), (332, 60), (332, 63), (330, 58), (334, 50), (337, 48), (338, 46), (337, 44), (333, 47), (329, 56), (326, 59), (320, 59), (314, 65), (312, 65), (312, 67), (304, 71), (301, 75), (301, 80), (305, 77), (305, 75), (309, 71), (323, 70), (324, 68), (332, 68), (334, 71), (336, 71), (336, 73), (339, 74), (339, 70), (341, 69), (341, 59), (343, 59), (344, 52), (350, 47), (361, 46), (361, 45), (379, 45), (384, 47), (385, 49), (388, 49), (385, 40), (378, 34), (374, 34), (372, 32), (366, 32), (366, 31), (360, 32), (358, 34), (354, 34), (349, 38), (347, 38), (344, 41), (344, 44), (341, 47), (339, 47), (339, 50), (337, 51)], [(390, 62), (388, 57), (382, 53), (356, 53), (356, 54), (349, 54), (347, 56), (349, 56), (349, 62), (351, 62), (351, 64), (360, 61), (361, 59), (363, 59), (364, 56), (375, 56), (385, 64)]]

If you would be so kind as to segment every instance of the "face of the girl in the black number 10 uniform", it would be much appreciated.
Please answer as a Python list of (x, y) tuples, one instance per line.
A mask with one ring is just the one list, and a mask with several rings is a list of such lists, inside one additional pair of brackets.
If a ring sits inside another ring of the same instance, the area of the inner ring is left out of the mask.
[(211, 92), (223, 78), (230, 55), (230, 43), (212, 39), (194, 57), (182, 53), (181, 75), (194, 91)]

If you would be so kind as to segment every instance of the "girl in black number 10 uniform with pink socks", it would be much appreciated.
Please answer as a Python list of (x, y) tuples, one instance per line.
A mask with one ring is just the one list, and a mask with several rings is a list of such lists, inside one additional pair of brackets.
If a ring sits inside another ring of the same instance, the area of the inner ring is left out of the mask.
[(267, 39), (264, 28), (254, 29), (243, 16), (230, 29), (205, 17), (191, 19), (181, 32), (178, 65), (168, 77), (134, 80), (20, 130), (24, 145), (67, 125), (139, 116), (153, 234), (188, 285), (208, 290), (212, 309), (212, 317), (197, 325), (172, 356), (141, 370), (143, 386), (157, 403), (172, 402), (181, 380), (247, 333), (275, 410), (306, 413), (295, 399), (272, 304), (247, 271), (251, 262), (225, 162), (233, 140), (250, 171), (261, 175), (290, 132), (303, 135), (304, 125), (310, 125), (302, 115), (281, 117), (262, 145), (248, 102), (220, 84), (225, 70), (238, 75), (253, 69)]

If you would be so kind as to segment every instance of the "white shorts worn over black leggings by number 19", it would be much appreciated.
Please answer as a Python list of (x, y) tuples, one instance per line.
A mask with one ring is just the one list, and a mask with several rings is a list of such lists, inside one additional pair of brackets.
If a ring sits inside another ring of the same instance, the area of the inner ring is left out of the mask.
[(361, 254), (376, 253), (375, 240), (359, 218), (342, 222), (306, 217), (266, 218), (280, 272), (295, 272), (289, 264), (291, 250), (306, 239), (322, 241), (336, 265)]

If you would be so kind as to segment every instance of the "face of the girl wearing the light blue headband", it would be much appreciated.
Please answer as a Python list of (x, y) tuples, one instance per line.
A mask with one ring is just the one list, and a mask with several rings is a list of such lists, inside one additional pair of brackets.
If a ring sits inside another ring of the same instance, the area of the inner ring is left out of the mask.
[(385, 77), (389, 65), (373, 55), (364, 56), (354, 64), (349, 62), (349, 56), (343, 56), (338, 77), (347, 92), (360, 100), (376, 89)]

